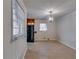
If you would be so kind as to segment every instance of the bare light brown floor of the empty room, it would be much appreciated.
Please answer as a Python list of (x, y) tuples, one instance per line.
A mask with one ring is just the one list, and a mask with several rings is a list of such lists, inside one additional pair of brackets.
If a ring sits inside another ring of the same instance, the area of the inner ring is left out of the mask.
[(75, 59), (76, 51), (57, 42), (28, 43), (25, 59)]

